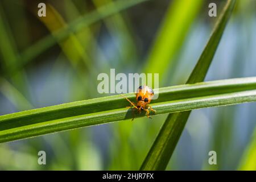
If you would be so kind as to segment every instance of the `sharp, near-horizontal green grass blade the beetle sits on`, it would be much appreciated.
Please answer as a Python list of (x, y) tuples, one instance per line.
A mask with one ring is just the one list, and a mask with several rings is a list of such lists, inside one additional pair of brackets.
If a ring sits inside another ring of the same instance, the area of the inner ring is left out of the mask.
[[(126, 96), (135, 100), (135, 94)], [(157, 114), (256, 101), (256, 77), (200, 82), (159, 89), (152, 101)], [(0, 143), (84, 126), (131, 119), (120, 95), (42, 107), (0, 116)], [(136, 114), (144, 117), (145, 113)]]

